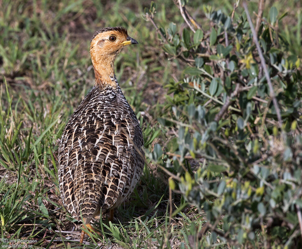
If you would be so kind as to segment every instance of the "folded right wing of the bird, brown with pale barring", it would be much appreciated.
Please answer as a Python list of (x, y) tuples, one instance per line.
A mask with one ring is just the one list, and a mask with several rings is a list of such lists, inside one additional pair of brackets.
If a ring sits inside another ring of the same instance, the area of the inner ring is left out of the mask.
[[(102, 210), (118, 206), (128, 191), (136, 170), (137, 153), (134, 140), (138, 140), (137, 124), (131, 119), (108, 120), (110, 128), (104, 134), (104, 144), (95, 157), (102, 163)], [(139, 128), (139, 127), (138, 127)], [(141, 136), (142, 138), (142, 136)], [(137, 144), (139, 145), (139, 144)]]

